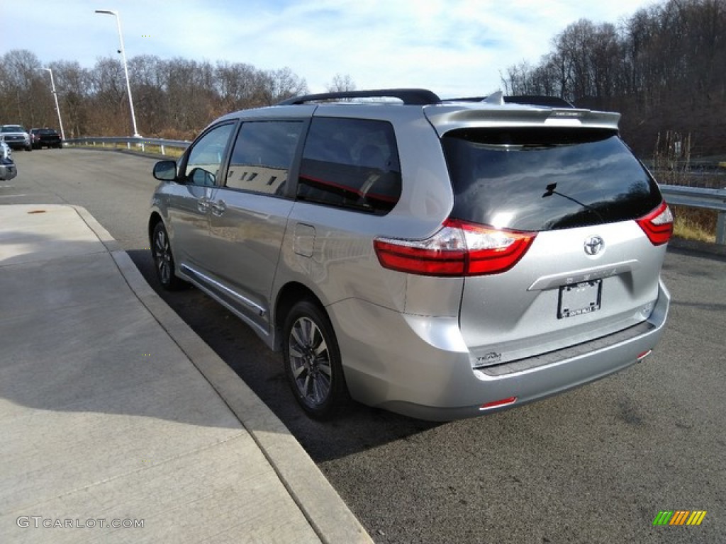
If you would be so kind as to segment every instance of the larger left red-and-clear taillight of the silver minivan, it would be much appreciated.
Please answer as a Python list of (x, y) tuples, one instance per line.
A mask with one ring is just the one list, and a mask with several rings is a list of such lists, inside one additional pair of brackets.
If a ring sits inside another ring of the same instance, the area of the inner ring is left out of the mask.
[(423, 276), (483, 276), (505, 272), (520, 260), (537, 233), (447, 219), (427, 239), (376, 238), (380, 264)]

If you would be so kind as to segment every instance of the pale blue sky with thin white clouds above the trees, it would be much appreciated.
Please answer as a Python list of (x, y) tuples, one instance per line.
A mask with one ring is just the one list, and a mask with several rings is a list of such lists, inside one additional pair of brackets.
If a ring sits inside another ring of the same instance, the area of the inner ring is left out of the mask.
[(502, 88), (512, 65), (537, 64), (572, 22), (617, 25), (665, 0), (0, 0), (0, 55), (41, 63), (152, 54), (290, 70), (311, 92), (335, 75), (356, 88), (423, 87), (444, 98)]

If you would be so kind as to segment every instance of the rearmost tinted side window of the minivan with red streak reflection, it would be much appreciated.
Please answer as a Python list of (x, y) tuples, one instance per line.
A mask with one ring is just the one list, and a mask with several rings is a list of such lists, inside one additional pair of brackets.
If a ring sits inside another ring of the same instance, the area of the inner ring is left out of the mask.
[(390, 123), (313, 118), (300, 165), (298, 199), (386, 214), (401, 197)]

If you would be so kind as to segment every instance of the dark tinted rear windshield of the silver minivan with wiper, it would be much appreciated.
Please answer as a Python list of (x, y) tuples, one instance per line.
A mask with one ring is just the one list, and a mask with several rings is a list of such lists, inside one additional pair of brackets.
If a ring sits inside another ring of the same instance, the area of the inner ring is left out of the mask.
[(446, 133), (452, 217), (547, 231), (640, 218), (661, 203), (613, 131), (463, 129)]

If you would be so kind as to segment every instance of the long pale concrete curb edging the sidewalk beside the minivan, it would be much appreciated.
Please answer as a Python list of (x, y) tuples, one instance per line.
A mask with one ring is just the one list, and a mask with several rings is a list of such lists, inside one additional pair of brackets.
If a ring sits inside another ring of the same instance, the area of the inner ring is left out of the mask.
[(71, 207), (105, 245), (121, 275), (142, 305), (187, 355), (250, 433), (320, 540), (325, 544), (372, 544), (370, 535), (285, 424), (163, 302), (147, 284), (131, 257), (123, 251), (121, 244), (85, 208)]

